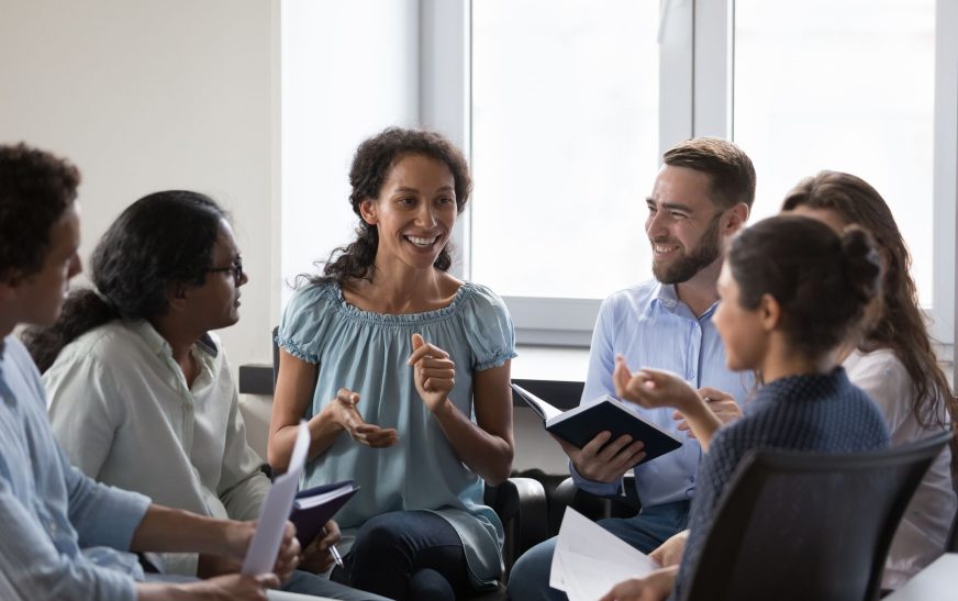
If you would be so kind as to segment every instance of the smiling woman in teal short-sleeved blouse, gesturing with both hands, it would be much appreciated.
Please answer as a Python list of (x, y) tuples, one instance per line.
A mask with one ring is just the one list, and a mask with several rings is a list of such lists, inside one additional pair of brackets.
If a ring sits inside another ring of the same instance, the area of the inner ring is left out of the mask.
[(305, 419), (303, 486), (360, 486), (337, 515), (356, 538), (334, 577), (393, 599), (454, 599), (502, 571), (502, 525), (482, 490), (512, 466), (515, 335), (498, 296), (447, 272), (471, 187), (457, 148), (389, 129), (359, 146), (349, 179), (358, 237), (280, 324), (269, 463), (286, 467)]

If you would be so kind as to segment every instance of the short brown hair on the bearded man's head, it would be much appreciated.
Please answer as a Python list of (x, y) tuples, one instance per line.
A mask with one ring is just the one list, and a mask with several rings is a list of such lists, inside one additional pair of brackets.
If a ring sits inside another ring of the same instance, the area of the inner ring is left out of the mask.
[(695, 137), (681, 142), (662, 155), (662, 163), (688, 167), (710, 176), (712, 201), (718, 209), (755, 200), (755, 167), (742, 148), (718, 137)]

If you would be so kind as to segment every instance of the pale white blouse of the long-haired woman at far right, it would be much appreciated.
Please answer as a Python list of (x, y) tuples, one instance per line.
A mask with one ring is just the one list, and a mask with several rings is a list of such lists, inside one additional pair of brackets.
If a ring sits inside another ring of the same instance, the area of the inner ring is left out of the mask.
[[(871, 353), (855, 350), (845, 359), (844, 366), (848, 379), (878, 404), (888, 422), (892, 445), (934, 434), (915, 419), (912, 379), (894, 352), (887, 348)], [(945, 412), (940, 401), (938, 411)], [(895, 532), (885, 563), (883, 588), (901, 587), (944, 552), (945, 539), (958, 507), (951, 486), (950, 466), (951, 450), (946, 446), (918, 485)]]

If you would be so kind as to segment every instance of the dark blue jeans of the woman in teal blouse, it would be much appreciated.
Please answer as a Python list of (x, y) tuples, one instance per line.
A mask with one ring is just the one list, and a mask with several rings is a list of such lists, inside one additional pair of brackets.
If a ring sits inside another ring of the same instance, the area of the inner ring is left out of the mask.
[(368, 520), (333, 578), (403, 601), (455, 601), (472, 590), (456, 530), (428, 511), (394, 511)]

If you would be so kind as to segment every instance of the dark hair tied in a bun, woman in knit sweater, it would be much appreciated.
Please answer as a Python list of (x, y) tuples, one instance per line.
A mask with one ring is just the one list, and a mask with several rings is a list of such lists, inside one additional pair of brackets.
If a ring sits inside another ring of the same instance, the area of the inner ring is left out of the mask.
[(810, 359), (847, 340), (881, 294), (881, 257), (857, 226), (839, 237), (810, 218), (769, 218), (733, 238), (727, 261), (738, 304), (755, 310), (764, 294), (775, 298), (788, 341)]

